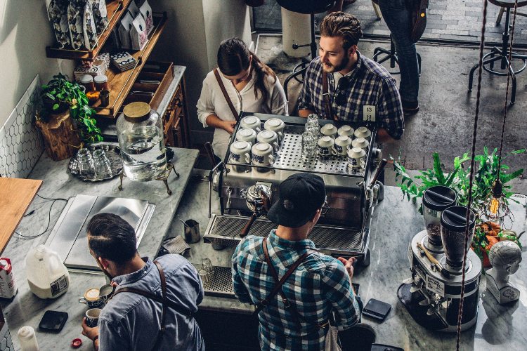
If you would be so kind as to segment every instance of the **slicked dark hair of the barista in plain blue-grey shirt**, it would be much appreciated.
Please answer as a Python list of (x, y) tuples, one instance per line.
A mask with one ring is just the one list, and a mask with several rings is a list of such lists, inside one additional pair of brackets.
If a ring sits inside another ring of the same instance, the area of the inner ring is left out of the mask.
[(122, 265), (134, 258), (136, 244), (134, 228), (113, 213), (98, 213), (88, 223), (88, 246), (97, 257)]

